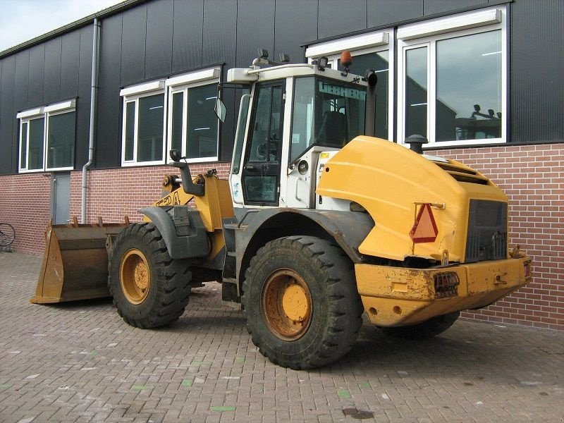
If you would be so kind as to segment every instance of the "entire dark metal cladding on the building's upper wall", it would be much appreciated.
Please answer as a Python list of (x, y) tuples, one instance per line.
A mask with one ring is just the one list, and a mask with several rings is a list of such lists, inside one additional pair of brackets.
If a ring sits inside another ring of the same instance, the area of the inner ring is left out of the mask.
[[(499, 0), (490, 0), (499, 4)], [(488, 4), (488, 0), (152, 0), (102, 19), (97, 168), (119, 166), (126, 85), (225, 63), (248, 66), (257, 47), (302, 61), (300, 44)], [(510, 142), (564, 140), (564, 2), (510, 4)], [(17, 111), (71, 97), (77, 104), (75, 167), (87, 159), (92, 26), (0, 59), (0, 174), (18, 171)], [(228, 94), (228, 108), (237, 102)], [(234, 114), (223, 125), (231, 159)]]

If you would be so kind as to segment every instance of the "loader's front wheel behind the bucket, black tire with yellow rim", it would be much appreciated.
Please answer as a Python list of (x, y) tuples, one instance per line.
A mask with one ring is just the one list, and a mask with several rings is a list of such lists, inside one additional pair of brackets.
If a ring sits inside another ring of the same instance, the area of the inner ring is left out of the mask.
[(152, 223), (133, 223), (118, 234), (109, 259), (108, 288), (123, 320), (142, 329), (178, 320), (188, 304), (188, 260), (168, 255)]

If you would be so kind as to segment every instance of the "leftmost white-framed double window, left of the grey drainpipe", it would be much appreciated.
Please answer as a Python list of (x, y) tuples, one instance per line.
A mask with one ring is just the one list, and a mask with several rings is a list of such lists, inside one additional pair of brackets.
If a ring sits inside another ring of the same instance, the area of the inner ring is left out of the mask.
[(20, 172), (73, 168), (75, 115), (75, 100), (18, 113)]

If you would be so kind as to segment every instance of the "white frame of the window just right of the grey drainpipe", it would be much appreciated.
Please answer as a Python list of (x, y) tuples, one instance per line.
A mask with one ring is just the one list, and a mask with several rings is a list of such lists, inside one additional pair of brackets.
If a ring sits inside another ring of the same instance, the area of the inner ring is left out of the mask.
[[(145, 82), (131, 87), (125, 87), (120, 91), (120, 96), (123, 97), (123, 124), (121, 128), (121, 166), (150, 166), (153, 164), (164, 164), (166, 156), (166, 90), (164, 89), (164, 80), (156, 80)], [(137, 147), (139, 144), (139, 100), (143, 97), (150, 97), (152, 95), (164, 94), (163, 97), (163, 152), (161, 158), (152, 161), (137, 161)], [(125, 160), (125, 131), (127, 129), (127, 105), (129, 103), (135, 104), (135, 119), (133, 127), (133, 160)]]

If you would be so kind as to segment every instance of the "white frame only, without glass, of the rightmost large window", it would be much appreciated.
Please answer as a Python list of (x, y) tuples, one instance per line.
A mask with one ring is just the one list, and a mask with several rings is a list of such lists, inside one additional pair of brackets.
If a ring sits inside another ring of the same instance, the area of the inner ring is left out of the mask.
[[(415, 23), (398, 28), (398, 106), (397, 140), (405, 144), (405, 56), (406, 51), (427, 47), (427, 137), (424, 148), (463, 147), (472, 145), (504, 144), (508, 127), (508, 13), (505, 6), (496, 6), (483, 11), (461, 13), (448, 18), (437, 18), (424, 23)], [(482, 32), (501, 30), (501, 138), (479, 140), (452, 140), (436, 142), (436, 42)]]

